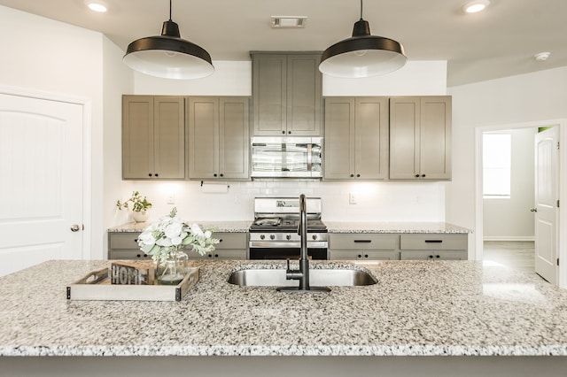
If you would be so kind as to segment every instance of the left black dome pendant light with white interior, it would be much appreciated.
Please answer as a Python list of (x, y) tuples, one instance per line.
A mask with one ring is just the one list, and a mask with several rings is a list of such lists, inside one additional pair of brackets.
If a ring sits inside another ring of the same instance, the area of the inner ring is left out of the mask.
[(171, 20), (171, 0), (161, 35), (131, 42), (123, 61), (138, 72), (166, 79), (198, 79), (214, 73), (209, 53), (179, 34), (179, 26)]

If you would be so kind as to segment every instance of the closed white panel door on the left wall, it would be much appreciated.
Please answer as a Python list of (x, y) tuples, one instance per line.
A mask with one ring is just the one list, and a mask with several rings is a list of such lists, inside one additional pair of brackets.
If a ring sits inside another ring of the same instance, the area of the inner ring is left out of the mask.
[(82, 258), (82, 112), (0, 94), (0, 276)]

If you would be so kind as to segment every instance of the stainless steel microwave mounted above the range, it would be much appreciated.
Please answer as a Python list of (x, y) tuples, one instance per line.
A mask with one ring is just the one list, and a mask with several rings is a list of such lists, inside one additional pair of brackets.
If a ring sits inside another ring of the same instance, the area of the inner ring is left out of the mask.
[(322, 177), (322, 137), (252, 137), (251, 176)]

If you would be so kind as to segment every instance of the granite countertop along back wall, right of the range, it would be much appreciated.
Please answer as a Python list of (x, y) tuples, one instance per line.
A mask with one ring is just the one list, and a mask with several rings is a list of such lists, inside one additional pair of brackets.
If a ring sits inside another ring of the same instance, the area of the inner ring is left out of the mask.
[(447, 222), (324, 221), (329, 233), (472, 233)]

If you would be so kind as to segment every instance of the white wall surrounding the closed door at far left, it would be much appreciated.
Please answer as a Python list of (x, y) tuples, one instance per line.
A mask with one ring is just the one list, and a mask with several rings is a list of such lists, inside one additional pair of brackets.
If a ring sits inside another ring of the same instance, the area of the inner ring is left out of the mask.
[[(85, 191), (93, 204), (102, 203), (103, 35), (4, 6), (0, 19), (1, 85), (88, 105)], [(85, 233), (91, 250), (103, 250), (102, 206), (88, 205), (83, 221), (92, 231)]]

